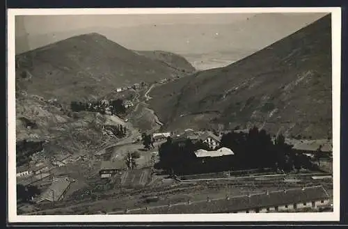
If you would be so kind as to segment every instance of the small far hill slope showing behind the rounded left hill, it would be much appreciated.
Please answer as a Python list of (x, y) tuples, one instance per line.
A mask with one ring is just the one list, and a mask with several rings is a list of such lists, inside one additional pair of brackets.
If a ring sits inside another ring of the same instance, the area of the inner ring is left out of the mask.
[(137, 54), (146, 56), (152, 60), (159, 61), (167, 65), (169, 68), (175, 70), (177, 74), (187, 73), (191, 74), (196, 71), (195, 68), (184, 57), (165, 51), (134, 51)]

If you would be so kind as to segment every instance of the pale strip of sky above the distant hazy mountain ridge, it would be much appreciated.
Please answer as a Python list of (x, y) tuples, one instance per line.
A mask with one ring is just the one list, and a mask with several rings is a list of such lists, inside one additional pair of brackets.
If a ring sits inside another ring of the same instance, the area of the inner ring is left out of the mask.
[(255, 14), (182, 14), (182, 15), (38, 15), (17, 16), (25, 30), (16, 28), (17, 35), (56, 33), (88, 27), (120, 28), (159, 24), (230, 24)]

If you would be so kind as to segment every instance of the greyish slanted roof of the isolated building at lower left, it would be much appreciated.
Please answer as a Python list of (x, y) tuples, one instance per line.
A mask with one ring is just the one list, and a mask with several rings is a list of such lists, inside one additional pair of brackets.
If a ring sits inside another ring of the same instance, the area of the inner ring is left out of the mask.
[(42, 194), (38, 202), (42, 200), (57, 201), (68, 189), (70, 180), (68, 176), (54, 177), (51, 186)]

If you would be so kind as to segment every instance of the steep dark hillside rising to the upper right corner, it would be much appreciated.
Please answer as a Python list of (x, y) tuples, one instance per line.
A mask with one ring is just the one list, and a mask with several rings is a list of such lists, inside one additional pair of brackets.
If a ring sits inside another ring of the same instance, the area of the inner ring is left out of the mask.
[(332, 132), (331, 15), (224, 68), (154, 88), (164, 129), (257, 125), (273, 134)]

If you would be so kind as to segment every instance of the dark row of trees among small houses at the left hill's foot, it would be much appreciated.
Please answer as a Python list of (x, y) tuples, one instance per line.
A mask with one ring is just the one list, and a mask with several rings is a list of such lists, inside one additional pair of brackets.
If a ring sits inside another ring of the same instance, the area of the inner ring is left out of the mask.
[(111, 114), (123, 114), (126, 112), (126, 107), (123, 104), (123, 100), (100, 100), (96, 102), (75, 102), (72, 101), (70, 103), (70, 108), (74, 112), (79, 111), (91, 111), (91, 112), (99, 112), (106, 113), (107, 111), (111, 112)]

